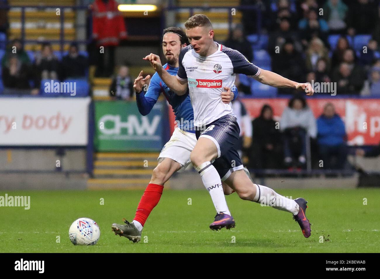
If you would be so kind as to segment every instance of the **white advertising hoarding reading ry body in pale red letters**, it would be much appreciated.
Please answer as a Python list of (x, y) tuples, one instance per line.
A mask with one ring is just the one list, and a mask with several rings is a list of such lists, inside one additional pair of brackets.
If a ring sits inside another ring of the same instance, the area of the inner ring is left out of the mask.
[(0, 145), (87, 145), (87, 98), (0, 98)]

